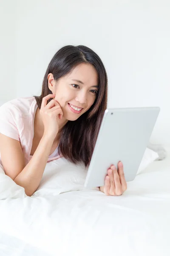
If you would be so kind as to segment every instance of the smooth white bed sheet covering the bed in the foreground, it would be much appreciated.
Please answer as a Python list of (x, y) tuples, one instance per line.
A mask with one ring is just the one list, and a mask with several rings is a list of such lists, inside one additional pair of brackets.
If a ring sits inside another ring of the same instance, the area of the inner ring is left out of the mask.
[(167, 149), (166, 159), (151, 163), (118, 197), (49, 189), (46, 196), (0, 200), (0, 256), (169, 256)]

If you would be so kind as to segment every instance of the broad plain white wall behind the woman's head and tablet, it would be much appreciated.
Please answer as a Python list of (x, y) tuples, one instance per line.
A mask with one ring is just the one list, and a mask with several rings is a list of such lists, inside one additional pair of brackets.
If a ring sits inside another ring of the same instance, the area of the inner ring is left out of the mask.
[[(105, 64), (108, 106), (160, 106), (150, 141), (170, 143), (169, 0), (16, 0), (15, 8), (10, 2), (15, 18), (12, 13), (4, 23), (9, 33), (0, 60), (0, 100), (39, 94), (55, 52), (67, 44), (83, 44)], [(8, 58), (6, 72), (2, 67)]]

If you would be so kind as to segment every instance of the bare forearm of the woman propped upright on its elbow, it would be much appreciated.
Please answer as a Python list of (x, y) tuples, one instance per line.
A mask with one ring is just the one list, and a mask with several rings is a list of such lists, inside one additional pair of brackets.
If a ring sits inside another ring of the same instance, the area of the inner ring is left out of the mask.
[(54, 138), (43, 135), (29, 163), (14, 181), (24, 187), (26, 195), (31, 196), (38, 188), (42, 178)]

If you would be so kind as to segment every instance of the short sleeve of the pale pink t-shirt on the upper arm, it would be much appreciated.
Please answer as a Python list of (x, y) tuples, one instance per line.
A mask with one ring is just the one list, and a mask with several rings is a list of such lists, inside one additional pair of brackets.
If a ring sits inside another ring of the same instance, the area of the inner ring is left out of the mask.
[(15, 105), (6, 102), (0, 107), (0, 133), (20, 141), (17, 119), (20, 118)]

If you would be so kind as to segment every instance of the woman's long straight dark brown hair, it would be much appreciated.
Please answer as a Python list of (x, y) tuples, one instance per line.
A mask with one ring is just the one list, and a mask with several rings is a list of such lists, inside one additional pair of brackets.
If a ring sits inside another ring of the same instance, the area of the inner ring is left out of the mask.
[(94, 151), (102, 117), (107, 108), (108, 77), (99, 56), (83, 45), (67, 45), (59, 49), (51, 59), (42, 82), (42, 93), (34, 96), (38, 108), (41, 108), (42, 98), (52, 93), (48, 88), (48, 74), (52, 73), (54, 80), (70, 73), (78, 64), (92, 64), (99, 80), (99, 90), (94, 104), (75, 121), (68, 121), (62, 129), (59, 141), (59, 154), (72, 163), (84, 163), (88, 167)]

